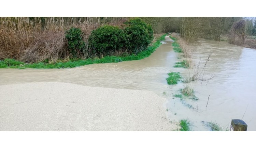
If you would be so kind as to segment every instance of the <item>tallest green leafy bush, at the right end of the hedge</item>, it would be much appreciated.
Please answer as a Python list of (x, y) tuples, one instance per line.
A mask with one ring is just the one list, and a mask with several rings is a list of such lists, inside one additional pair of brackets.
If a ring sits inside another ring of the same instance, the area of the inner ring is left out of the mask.
[(135, 54), (145, 50), (154, 39), (152, 26), (146, 24), (140, 18), (130, 19), (125, 24), (127, 26), (124, 31), (127, 33), (129, 40), (125, 47)]

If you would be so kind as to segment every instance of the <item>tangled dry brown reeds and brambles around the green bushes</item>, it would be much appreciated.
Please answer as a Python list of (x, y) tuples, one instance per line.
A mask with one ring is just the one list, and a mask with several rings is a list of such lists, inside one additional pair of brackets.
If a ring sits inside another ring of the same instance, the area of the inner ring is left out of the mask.
[[(56, 62), (67, 59), (70, 57), (65, 38), (67, 29), (80, 28), (88, 43), (92, 30), (102, 24), (121, 26), (125, 20), (126, 17), (0, 17), (0, 60)], [(96, 56), (90, 55), (88, 44), (84, 50), (78, 53), (78, 58)]]

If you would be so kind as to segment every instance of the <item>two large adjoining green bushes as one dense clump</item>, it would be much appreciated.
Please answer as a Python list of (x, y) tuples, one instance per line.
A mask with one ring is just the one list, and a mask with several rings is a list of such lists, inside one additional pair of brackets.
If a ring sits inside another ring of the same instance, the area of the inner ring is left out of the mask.
[(125, 27), (104, 25), (91, 32), (89, 48), (95, 54), (108, 55), (110, 51), (126, 49), (128, 53), (138, 54), (147, 49), (152, 42), (152, 26), (140, 18), (130, 19), (125, 22)]

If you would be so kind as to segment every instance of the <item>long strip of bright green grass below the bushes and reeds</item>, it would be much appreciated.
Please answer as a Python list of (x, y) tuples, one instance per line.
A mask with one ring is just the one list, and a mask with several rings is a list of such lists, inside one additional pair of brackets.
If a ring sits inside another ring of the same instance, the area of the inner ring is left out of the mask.
[(72, 68), (72, 67), (78, 67), (83, 65), (89, 65), (89, 64), (95, 64), (95, 63), (117, 63), (122, 61), (131, 61), (131, 60), (141, 60), (145, 57), (148, 57), (151, 55), (152, 52), (158, 48), (161, 43), (161, 40), (165, 39), (166, 34), (160, 36), (155, 43), (153, 43), (151, 46), (149, 46), (146, 50), (139, 52), (137, 55), (128, 55), (128, 56), (105, 56), (101, 59), (95, 58), (95, 59), (86, 59), (86, 60), (70, 60), (68, 62), (56, 62), (56, 63), (24, 63), (20, 61), (16, 61), (13, 59), (5, 59), (3, 61), (0, 61), (0, 68), (19, 68), (19, 69), (25, 69), (25, 68)]

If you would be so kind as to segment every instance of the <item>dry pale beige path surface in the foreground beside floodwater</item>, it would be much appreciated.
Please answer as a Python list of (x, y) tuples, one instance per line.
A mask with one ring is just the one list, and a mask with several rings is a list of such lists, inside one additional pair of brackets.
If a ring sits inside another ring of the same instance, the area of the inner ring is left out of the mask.
[(0, 86), (0, 131), (173, 131), (154, 92), (39, 82)]

